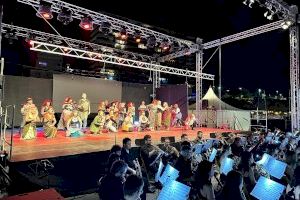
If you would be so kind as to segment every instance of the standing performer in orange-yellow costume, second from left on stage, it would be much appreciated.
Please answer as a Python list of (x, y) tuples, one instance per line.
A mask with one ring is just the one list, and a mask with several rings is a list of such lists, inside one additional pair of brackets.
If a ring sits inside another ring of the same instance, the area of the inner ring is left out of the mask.
[(55, 112), (51, 105), (51, 100), (46, 99), (41, 108), (44, 134), (46, 138), (54, 138), (57, 133), (57, 128), (55, 127), (56, 119), (54, 113)]

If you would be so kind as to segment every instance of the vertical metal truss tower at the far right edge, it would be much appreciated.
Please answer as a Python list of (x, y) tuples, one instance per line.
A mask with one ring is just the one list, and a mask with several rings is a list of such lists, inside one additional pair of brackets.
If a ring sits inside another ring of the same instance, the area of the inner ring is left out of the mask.
[(300, 130), (300, 85), (299, 85), (299, 27), (290, 28), (290, 84), (292, 131)]

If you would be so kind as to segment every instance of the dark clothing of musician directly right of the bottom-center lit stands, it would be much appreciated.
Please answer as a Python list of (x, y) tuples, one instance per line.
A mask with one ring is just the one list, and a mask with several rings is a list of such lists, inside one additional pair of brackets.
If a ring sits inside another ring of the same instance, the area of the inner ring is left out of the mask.
[(185, 160), (184, 157), (180, 155), (174, 167), (179, 171), (179, 177), (177, 179), (179, 182), (185, 182), (184, 180), (193, 176), (190, 159)]

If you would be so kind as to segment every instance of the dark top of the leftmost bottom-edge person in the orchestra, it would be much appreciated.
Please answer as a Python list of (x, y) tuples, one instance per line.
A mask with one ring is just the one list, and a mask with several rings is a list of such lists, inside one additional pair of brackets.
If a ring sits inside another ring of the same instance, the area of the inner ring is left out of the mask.
[(101, 200), (123, 200), (124, 191), (121, 178), (112, 174), (104, 176), (98, 194)]

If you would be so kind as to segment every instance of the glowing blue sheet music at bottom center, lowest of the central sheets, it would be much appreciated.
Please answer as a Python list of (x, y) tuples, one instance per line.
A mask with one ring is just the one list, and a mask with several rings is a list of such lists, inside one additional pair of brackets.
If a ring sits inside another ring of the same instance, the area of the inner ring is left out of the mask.
[(191, 188), (178, 181), (170, 181), (159, 193), (158, 200), (186, 200)]

